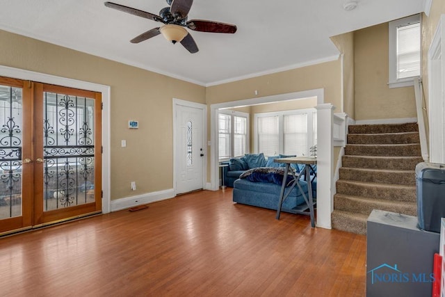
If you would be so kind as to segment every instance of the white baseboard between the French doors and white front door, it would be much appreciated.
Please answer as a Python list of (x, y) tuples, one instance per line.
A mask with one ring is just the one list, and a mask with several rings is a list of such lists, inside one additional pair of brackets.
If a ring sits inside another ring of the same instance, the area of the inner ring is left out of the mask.
[(111, 200), (111, 211), (119, 211), (130, 207), (135, 207), (140, 204), (147, 204), (161, 200), (167, 200), (175, 197), (175, 191), (170, 188), (164, 191), (146, 193), (143, 195), (136, 195), (117, 200)]

